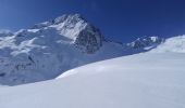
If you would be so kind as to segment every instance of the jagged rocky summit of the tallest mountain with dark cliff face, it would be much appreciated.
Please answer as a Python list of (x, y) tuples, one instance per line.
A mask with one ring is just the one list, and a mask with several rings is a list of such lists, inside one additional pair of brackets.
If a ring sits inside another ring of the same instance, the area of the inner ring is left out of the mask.
[(100, 30), (88, 23), (81, 14), (65, 14), (52, 21), (36, 24), (32, 29), (45, 30), (47, 28), (52, 28), (59, 35), (72, 40), (71, 43), (86, 53), (98, 51), (104, 39)]

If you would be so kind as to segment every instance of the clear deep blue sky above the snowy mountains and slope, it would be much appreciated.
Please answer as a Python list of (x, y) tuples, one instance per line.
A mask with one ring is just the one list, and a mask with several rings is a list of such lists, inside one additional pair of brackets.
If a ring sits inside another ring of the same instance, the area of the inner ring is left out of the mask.
[(0, 0), (0, 29), (81, 13), (112, 40), (185, 35), (185, 0)]

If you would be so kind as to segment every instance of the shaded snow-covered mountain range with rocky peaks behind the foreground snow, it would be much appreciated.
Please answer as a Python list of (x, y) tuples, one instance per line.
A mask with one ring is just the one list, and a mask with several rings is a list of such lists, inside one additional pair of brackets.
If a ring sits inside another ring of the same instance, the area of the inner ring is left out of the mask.
[(111, 42), (79, 14), (63, 15), (0, 37), (0, 83), (53, 79), (74, 67), (148, 51), (161, 42), (157, 37)]

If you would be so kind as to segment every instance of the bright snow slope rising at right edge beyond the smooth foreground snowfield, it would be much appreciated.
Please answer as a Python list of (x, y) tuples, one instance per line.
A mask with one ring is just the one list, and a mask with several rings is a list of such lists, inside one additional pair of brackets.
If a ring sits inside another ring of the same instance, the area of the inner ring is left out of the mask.
[(172, 37), (166, 39), (162, 44), (157, 46), (157, 49), (151, 50), (155, 53), (185, 53), (185, 36)]

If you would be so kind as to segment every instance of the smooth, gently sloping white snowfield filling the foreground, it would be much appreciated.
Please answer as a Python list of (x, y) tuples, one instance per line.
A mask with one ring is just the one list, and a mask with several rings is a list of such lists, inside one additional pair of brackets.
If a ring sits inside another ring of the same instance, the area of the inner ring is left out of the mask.
[(185, 54), (145, 53), (0, 87), (0, 108), (185, 108)]

